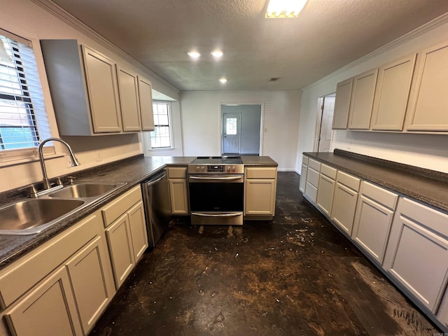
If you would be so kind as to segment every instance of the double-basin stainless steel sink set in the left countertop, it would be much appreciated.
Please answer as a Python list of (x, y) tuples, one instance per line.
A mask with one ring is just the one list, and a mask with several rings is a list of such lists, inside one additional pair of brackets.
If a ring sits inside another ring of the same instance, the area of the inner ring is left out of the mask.
[(0, 208), (0, 235), (31, 235), (59, 223), (125, 183), (77, 183)]

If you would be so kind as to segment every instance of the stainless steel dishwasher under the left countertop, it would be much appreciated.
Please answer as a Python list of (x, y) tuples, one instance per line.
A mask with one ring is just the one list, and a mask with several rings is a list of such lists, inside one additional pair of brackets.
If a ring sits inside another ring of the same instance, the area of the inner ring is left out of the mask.
[(141, 183), (141, 190), (143, 192), (149, 246), (155, 247), (155, 244), (167, 230), (171, 218), (166, 169)]

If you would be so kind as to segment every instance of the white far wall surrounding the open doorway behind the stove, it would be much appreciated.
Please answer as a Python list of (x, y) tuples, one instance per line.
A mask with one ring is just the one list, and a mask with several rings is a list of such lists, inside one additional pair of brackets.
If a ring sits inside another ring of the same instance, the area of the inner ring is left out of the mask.
[(263, 104), (262, 155), (279, 170), (295, 170), (300, 91), (200, 91), (181, 93), (183, 154), (221, 155), (221, 103)]

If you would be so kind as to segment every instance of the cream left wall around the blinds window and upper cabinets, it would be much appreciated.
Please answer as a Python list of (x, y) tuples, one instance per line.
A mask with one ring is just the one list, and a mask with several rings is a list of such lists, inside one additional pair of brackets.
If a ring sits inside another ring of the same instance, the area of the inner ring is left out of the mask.
[[(113, 51), (114, 48), (106, 46), (107, 43), (99, 43), (94, 35), (81, 33), (68, 23), (50, 14), (40, 6), (29, 0), (10, 1), (0, 0), (0, 28), (12, 32), (23, 38), (27, 38), (33, 43), (34, 53), (38, 66), (38, 73), (41, 77), (45, 108), (48, 113), (52, 136), (58, 137), (55, 113), (52, 107), (50, 90), (45, 75), (42, 53), (39, 39), (44, 38), (75, 38), (79, 43), (89, 45), (91, 48), (102, 52), (120, 64), (127, 66), (141, 76), (149, 78), (155, 90), (169, 95), (175, 99), (179, 98), (179, 90), (158, 78), (151, 71), (143, 71), (141, 64), (127, 62)], [(18, 20), (20, 13), (20, 20)], [(111, 135), (100, 137), (64, 137), (73, 147), (80, 167), (67, 167), (68, 158), (56, 158), (48, 160), (48, 175), (59, 176), (69, 174), (76, 170), (93, 167), (96, 165), (113, 162), (132, 155), (143, 153), (139, 134)], [(56, 144), (58, 153), (65, 153), (65, 150)], [(0, 162), (0, 192), (25, 186), (29, 183), (41, 181), (41, 169), (39, 163), (29, 162), (21, 165), (7, 166)]]

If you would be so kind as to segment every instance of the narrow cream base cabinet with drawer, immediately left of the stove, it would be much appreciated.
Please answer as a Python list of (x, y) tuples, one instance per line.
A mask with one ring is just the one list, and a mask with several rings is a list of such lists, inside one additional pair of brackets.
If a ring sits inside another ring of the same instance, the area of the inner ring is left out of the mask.
[(169, 200), (172, 215), (188, 215), (187, 167), (168, 168)]

